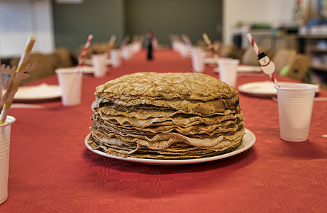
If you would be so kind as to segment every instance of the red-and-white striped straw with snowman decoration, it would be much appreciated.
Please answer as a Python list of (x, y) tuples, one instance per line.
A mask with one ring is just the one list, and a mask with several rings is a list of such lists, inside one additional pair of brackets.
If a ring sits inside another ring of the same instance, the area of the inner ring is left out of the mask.
[(253, 50), (255, 50), (255, 53), (257, 54), (257, 60), (259, 60), (261, 65), (261, 70), (265, 72), (265, 74), (269, 75), (270, 79), (276, 87), (280, 87), (275, 76), (275, 64), (270, 60), (270, 58), (263, 52), (260, 52), (259, 48), (257, 48), (257, 44), (255, 43), (255, 40), (253, 40), (252, 35), (248, 33), (247, 35), (248, 40), (250, 41), (251, 45), (253, 46)]

